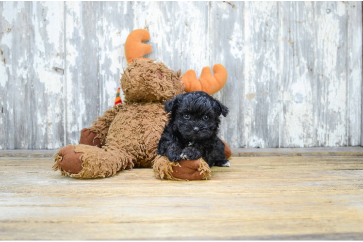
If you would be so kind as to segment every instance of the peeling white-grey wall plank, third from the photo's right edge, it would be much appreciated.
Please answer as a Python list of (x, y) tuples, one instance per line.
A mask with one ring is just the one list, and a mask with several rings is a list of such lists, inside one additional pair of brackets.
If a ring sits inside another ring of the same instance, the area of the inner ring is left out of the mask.
[(280, 147), (315, 146), (314, 3), (281, 2)]

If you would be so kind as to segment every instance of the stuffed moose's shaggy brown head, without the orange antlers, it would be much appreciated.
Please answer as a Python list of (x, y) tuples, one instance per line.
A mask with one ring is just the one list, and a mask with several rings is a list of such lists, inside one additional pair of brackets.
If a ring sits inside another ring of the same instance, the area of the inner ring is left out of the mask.
[(133, 61), (124, 70), (121, 87), (126, 100), (163, 102), (184, 92), (184, 86), (180, 81), (180, 71), (175, 73), (164, 63), (154, 61)]

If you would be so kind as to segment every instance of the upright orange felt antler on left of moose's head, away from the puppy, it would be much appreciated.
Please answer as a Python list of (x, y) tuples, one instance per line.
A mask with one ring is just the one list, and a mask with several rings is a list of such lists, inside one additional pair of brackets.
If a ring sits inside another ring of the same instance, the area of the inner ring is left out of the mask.
[(142, 43), (149, 39), (150, 34), (148, 30), (133, 30), (129, 36), (127, 36), (125, 42), (125, 56), (128, 63), (136, 58), (138, 60), (150, 60), (142, 58), (146, 54), (151, 53), (151, 45)]

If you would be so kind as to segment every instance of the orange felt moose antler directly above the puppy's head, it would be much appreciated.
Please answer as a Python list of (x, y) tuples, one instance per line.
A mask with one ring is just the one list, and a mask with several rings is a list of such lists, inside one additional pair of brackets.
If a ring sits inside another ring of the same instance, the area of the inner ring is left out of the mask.
[(227, 70), (221, 64), (215, 64), (213, 66), (212, 76), (211, 69), (204, 67), (199, 79), (196, 72), (188, 70), (181, 76), (181, 81), (185, 85), (185, 91), (205, 91), (208, 94), (214, 94), (221, 90), (227, 81)]

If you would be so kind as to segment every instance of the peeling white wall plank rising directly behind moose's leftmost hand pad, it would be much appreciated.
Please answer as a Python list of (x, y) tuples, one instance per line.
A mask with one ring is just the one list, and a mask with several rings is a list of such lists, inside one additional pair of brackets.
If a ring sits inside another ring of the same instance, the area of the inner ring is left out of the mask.
[(99, 2), (66, 2), (66, 143), (99, 116)]

